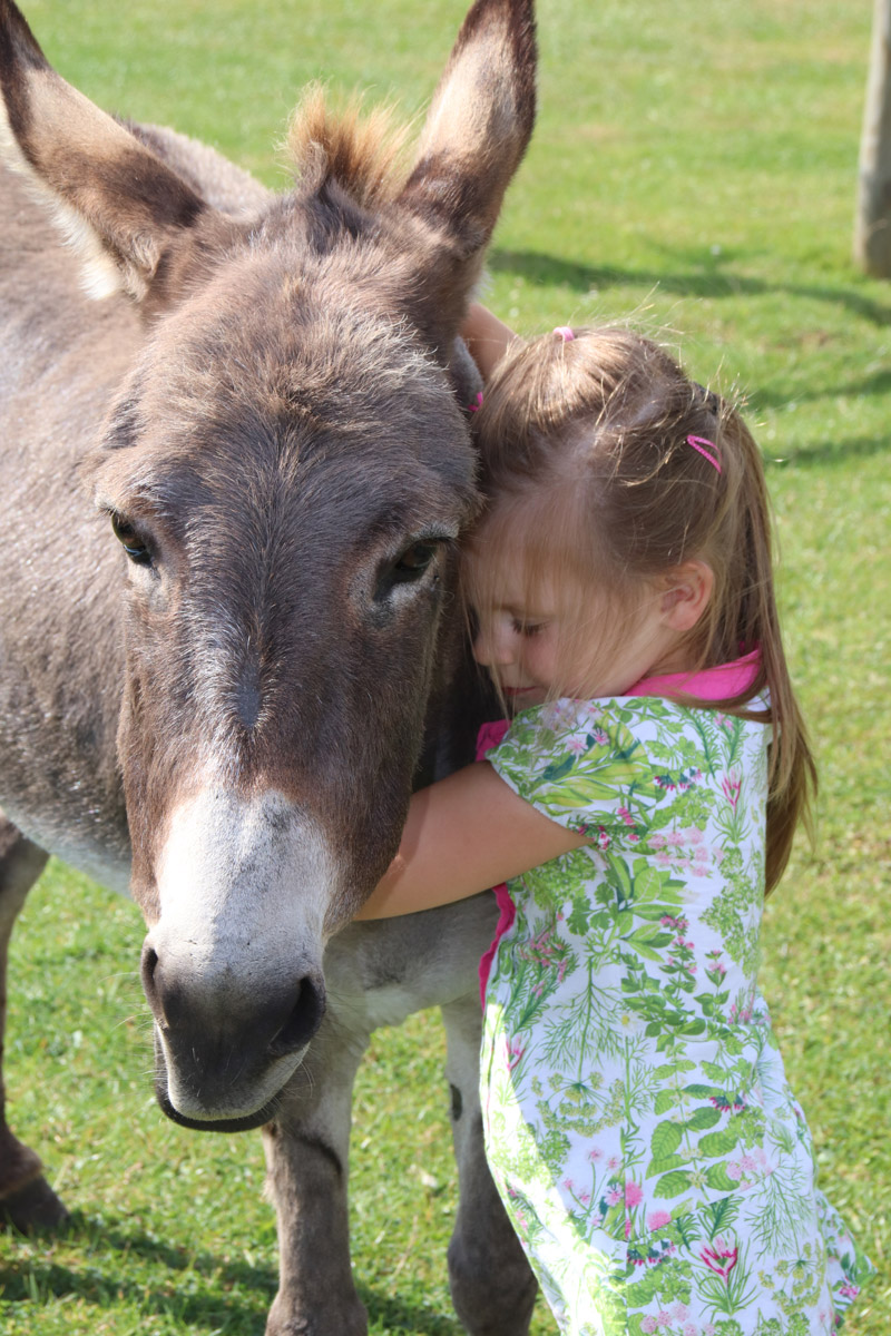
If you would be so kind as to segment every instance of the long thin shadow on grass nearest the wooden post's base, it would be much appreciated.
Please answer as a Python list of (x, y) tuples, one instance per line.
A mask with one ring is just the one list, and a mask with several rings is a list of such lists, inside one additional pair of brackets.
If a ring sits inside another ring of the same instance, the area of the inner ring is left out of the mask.
[[(667, 269), (656, 271), (618, 269), (614, 265), (580, 265), (540, 251), (494, 250), (488, 265), (494, 273), (520, 274), (532, 283), (572, 287), (577, 293), (613, 286), (647, 290), (659, 287), (676, 297), (764, 297), (779, 291), (842, 306), (851, 315), (880, 327), (891, 322), (891, 306), (875, 302), (851, 287), (765, 283), (757, 278), (741, 278), (728, 269), (728, 262), (733, 258), (732, 251), (721, 251), (720, 255), (712, 255), (709, 250), (669, 253)], [(685, 266), (685, 273), (677, 273), (679, 266)]]

